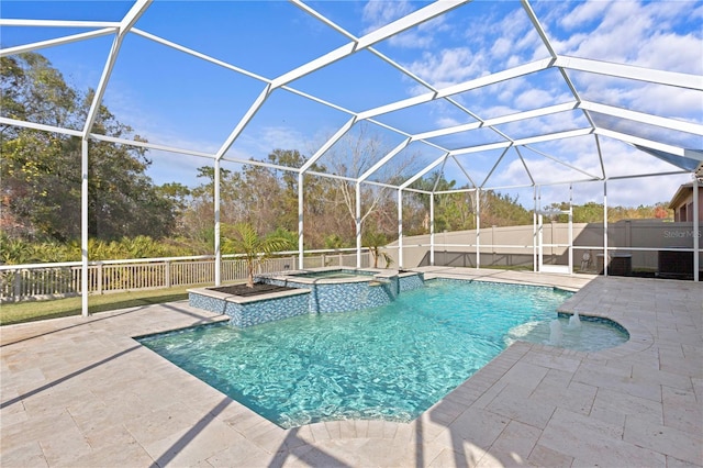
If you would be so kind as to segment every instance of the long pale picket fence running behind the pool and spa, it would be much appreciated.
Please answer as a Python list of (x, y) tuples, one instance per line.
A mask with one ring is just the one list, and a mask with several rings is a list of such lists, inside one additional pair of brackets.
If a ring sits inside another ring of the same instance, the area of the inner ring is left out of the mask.
[[(303, 258), (304, 268), (323, 266), (356, 266), (354, 249), (312, 250)], [(247, 269), (241, 255), (225, 255), (221, 264), (222, 282), (246, 279)], [(361, 266), (369, 266), (369, 253), (364, 250)], [(284, 252), (269, 258), (258, 272), (293, 270), (298, 256)], [(81, 293), (81, 264), (2, 265), (0, 266), (0, 301), (47, 300)], [(88, 291), (91, 294), (178, 286), (214, 283), (213, 256), (144, 258), (130, 260), (91, 261), (88, 266)]]

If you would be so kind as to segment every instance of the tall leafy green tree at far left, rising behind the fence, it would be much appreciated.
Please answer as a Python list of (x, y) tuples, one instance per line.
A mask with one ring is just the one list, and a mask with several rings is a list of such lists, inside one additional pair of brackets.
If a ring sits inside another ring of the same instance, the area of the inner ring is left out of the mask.
[[(79, 93), (38, 54), (2, 57), (2, 108), (11, 119), (80, 129), (93, 91)], [(133, 137), (104, 107), (93, 133)], [(3, 225), (29, 238), (68, 242), (80, 235), (81, 142), (75, 136), (5, 125), (0, 127)], [(145, 151), (102, 141), (89, 142), (88, 216), (91, 236), (170, 234), (175, 207), (146, 176)]]

